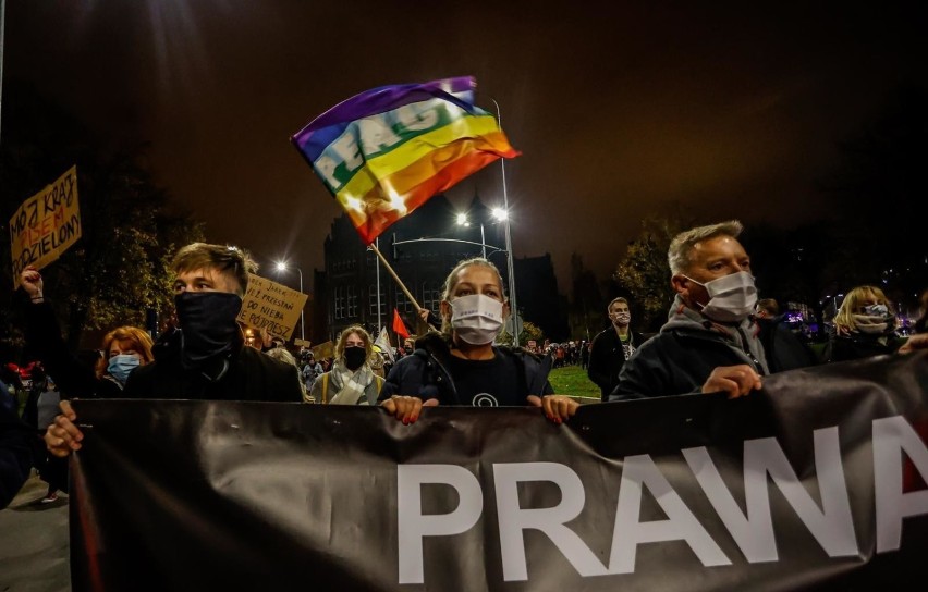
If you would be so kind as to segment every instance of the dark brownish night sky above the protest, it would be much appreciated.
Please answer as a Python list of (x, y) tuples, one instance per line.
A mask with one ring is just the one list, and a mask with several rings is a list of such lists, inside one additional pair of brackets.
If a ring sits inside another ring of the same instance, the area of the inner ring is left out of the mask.
[[(838, 143), (926, 82), (925, 9), (900, 5), (7, 0), (3, 74), (105, 138), (150, 140), (156, 182), (209, 240), (266, 276), (289, 258), (307, 291), (341, 209), (290, 136), (377, 86), (474, 75), (523, 152), (505, 163), (513, 250), (550, 252), (566, 292), (571, 252), (603, 279), (674, 203), (827, 217)], [(492, 206), (501, 178), (497, 162), (449, 196)]]

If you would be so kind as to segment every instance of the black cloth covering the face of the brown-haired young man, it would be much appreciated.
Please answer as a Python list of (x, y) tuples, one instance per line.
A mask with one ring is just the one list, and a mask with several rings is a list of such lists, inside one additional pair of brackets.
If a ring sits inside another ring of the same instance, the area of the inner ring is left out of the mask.
[(242, 309), (242, 297), (228, 292), (184, 292), (174, 296), (181, 326), (181, 362), (199, 368), (207, 360), (232, 350)]

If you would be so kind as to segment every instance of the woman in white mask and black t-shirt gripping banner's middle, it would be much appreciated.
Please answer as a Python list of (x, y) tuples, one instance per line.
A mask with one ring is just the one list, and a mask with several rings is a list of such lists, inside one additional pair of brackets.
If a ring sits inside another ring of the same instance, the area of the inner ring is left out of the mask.
[(460, 262), (444, 283), (441, 333), (416, 342), (412, 356), (390, 370), (380, 402), (396, 419), (412, 423), (423, 406), (537, 406), (552, 421), (571, 417), (578, 404), (553, 395), (551, 360), (493, 341), (509, 317), (499, 270), (474, 258)]

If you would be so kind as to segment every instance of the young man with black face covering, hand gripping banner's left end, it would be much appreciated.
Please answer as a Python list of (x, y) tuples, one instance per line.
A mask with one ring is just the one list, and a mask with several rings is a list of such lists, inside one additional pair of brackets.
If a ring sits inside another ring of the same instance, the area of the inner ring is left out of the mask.
[[(174, 256), (179, 328), (159, 341), (155, 361), (125, 383), (126, 398), (303, 400), (296, 368), (245, 346), (236, 317), (255, 261), (243, 250), (193, 243)], [(83, 434), (68, 402), (45, 434), (56, 456), (81, 448)]]

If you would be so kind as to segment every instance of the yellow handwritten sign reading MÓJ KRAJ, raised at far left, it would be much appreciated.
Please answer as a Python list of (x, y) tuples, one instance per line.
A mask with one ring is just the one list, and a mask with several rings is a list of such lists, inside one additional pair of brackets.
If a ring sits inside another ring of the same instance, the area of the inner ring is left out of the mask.
[(77, 165), (26, 199), (10, 219), (13, 289), (28, 266), (41, 269), (81, 238)]

